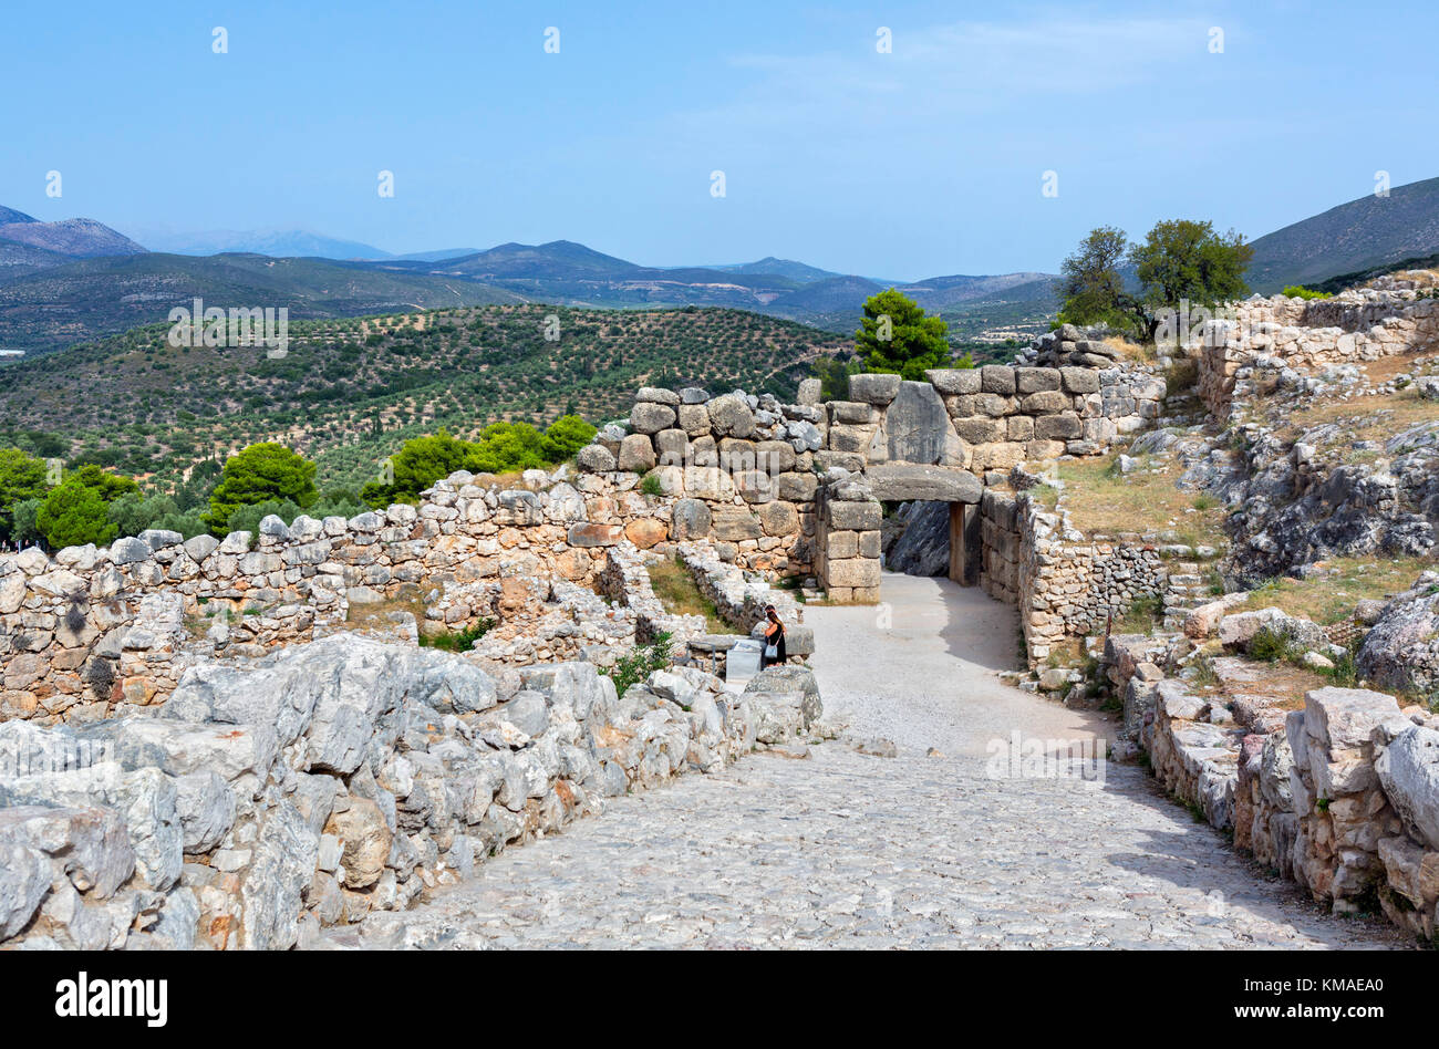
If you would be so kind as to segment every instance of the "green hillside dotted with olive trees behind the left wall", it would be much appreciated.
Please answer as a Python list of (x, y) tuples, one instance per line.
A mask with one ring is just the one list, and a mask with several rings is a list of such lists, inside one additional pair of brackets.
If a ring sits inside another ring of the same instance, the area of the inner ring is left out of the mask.
[[(547, 341), (545, 317), (560, 322)], [(793, 396), (807, 363), (850, 338), (734, 309), (587, 311), (502, 305), (291, 324), (288, 355), (174, 348), (167, 325), (4, 368), (0, 446), (59, 449), (157, 475), (279, 440), (358, 486), (410, 436), (472, 436), (501, 419), (629, 412), (645, 384)], [(22, 436), (26, 435), (26, 436)], [(50, 450), (55, 455), (56, 450)]]

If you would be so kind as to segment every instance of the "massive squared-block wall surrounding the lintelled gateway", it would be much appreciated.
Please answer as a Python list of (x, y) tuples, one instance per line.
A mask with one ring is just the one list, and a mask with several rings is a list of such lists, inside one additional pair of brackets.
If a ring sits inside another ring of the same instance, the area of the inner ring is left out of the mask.
[[(1078, 347), (1052, 341), (1053, 353)], [(849, 400), (825, 404), (816, 380), (802, 384), (800, 404), (645, 389), (630, 432), (604, 427), (578, 463), (614, 483), (653, 476), (676, 499), (671, 540), (712, 538), (743, 568), (813, 574), (842, 601), (878, 600), (876, 501), (950, 502), (951, 577), (973, 583), (980, 558), (967, 547), (979, 528), (963, 507), (980, 501), (984, 481), (1026, 460), (1104, 453), (1160, 414), (1166, 387), (1153, 368), (1065, 353), (1101, 367), (858, 374)]]

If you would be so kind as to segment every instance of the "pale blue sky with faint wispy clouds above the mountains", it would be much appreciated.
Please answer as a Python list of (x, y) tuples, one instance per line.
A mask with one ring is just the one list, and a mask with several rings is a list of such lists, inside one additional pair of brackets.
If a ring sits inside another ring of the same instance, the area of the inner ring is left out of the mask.
[(1053, 271), (1097, 224), (1255, 237), (1439, 174), (1432, 0), (295, 7), (12, 6), (0, 203), (915, 279)]

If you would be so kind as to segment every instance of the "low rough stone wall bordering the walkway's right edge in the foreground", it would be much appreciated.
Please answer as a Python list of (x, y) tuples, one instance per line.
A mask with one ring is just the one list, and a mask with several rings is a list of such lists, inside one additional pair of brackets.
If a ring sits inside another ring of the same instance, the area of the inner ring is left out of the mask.
[(1439, 718), (1394, 696), (1309, 689), (1285, 711), (1226, 702), (1177, 678), (1167, 640), (1111, 636), (1108, 679), (1158, 783), (1235, 848), (1338, 912), (1377, 899), (1433, 938), (1439, 907)]

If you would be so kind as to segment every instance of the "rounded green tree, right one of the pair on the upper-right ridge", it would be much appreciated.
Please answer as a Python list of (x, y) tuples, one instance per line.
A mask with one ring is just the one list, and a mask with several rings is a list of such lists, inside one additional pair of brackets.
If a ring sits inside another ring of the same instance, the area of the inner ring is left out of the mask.
[(1130, 249), (1130, 262), (1147, 305), (1179, 309), (1180, 299), (1215, 306), (1248, 295), (1245, 269), (1253, 253), (1240, 233), (1220, 235), (1213, 223), (1174, 219), (1156, 223), (1144, 243)]

